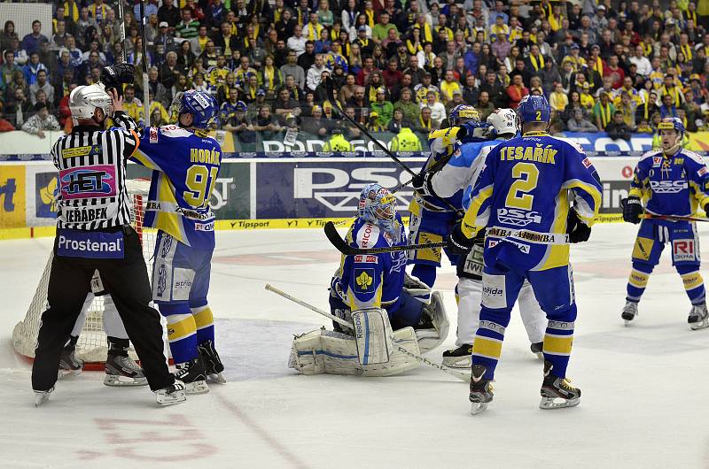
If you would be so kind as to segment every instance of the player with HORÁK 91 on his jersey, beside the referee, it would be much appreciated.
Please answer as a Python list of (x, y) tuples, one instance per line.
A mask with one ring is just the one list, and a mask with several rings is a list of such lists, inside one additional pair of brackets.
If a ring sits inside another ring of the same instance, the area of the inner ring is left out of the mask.
[(144, 225), (158, 228), (152, 296), (168, 319), (176, 376), (188, 394), (207, 392), (206, 378), (226, 382), (214, 349), (214, 318), (206, 301), (214, 251), (209, 199), (222, 149), (206, 135), (216, 118), (214, 98), (201, 91), (175, 96), (177, 125), (144, 129), (133, 159), (152, 170)]

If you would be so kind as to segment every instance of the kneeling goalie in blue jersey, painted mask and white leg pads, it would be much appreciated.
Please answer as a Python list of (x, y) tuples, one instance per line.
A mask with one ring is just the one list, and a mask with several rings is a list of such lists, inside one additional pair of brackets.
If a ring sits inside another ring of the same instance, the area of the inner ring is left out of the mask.
[[(396, 199), (378, 184), (360, 195), (357, 219), (347, 243), (361, 249), (406, 244), (406, 230), (396, 212)], [(331, 313), (353, 323), (335, 323), (334, 331), (316, 329), (296, 336), (289, 365), (303, 374), (389, 376), (416, 368), (412, 353), (437, 347), (448, 335), (448, 318), (438, 292), (423, 304), (404, 288), (406, 252), (342, 256), (331, 280)]]

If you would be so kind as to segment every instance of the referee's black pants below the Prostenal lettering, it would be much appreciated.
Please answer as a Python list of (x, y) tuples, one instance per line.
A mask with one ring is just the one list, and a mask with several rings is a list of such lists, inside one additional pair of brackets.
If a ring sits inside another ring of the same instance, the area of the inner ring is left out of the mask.
[(122, 259), (57, 256), (55, 238), (47, 292), (49, 309), (42, 314), (32, 366), (33, 389), (49, 390), (57, 382), (61, 352), (91, 290), (95, 270), (101, 274), (104, 288), (121, 315), (150, 388), (166, 388), (175, 381), (163, 353), (160, 313), (149, 306), (152, 290), (138, 235), (130, 227), (104, 231), (115, 233), (121, 229), (125, 233)]

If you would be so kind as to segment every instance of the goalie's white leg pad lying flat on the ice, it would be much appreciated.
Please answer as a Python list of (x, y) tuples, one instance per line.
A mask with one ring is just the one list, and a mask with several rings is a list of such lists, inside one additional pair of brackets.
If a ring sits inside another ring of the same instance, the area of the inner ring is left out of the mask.
[(301, 374), (345, 374), (392, 376), (419, 366), (410, 354), (420, 354), (416, 334), (411, 327), (393, 333), (393, 351), (382, 364), (360, 365), (354, 337), (323, 328), (298, 335), (293, 339), (288, 366)]

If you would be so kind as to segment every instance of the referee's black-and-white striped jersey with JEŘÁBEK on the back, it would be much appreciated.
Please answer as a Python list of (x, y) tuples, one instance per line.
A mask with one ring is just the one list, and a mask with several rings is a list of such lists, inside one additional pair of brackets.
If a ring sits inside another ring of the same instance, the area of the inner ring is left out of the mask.
[(54, 143), (58, 228), (91, 231), (130, 224), (126, 165), (140, 140), (128, 114), (114, 112), (113, 120), (121, 127), (77, 126)]

